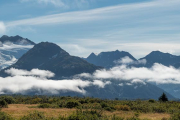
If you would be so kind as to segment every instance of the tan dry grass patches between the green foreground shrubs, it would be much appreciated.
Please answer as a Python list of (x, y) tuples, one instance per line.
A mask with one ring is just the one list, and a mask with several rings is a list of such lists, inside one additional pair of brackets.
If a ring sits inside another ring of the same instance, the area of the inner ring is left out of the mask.
[[(38, 104), (26, 105), (26, 104), (11, 104), (8, 108), (3, 108), (2, 112), (10, 114), (15, 119), (20, 119), (24, 115), (28, 115), (30, 112), (39, 111), (43, 112), (46, 117), (55, 117), (58, 118), (61, 116), (69, 116), (76, 109), (68, 109), (68, 108), (36, 108)], [(133, 117), (135, 112), (133, 111), (104, 111), (103, 114), (107, 116), (120, 116), (123, 118)], [(170, 114), (167, 113), (142, 113), (139, 115), (140, 119), (149, 119), (149, 120), (161, 120), (162, 118), (170, 118)]]

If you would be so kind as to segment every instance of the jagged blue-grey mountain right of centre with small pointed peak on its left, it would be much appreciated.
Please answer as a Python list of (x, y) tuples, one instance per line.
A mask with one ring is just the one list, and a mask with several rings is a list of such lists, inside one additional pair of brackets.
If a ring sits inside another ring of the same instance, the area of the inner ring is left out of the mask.
[(130, 53), (118, 50), (112, 52), (101, 52), (98, 55), (91, 53), (85, 60), (97, 66), (111, 68), (117, 65), (116, 61), (121, 60), (124, 57), (137, 61)]

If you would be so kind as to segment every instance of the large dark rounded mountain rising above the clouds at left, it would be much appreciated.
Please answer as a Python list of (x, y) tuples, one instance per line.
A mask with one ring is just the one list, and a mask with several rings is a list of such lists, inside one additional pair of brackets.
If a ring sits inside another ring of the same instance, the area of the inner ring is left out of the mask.
[(49, 42), (36, 44), (11, 67), (49, 70), (54, 72), (56, 77), (70, 77), (83, 72), (92, 73), (101, 68), (79, 57), (71, 56), (58, 45)]

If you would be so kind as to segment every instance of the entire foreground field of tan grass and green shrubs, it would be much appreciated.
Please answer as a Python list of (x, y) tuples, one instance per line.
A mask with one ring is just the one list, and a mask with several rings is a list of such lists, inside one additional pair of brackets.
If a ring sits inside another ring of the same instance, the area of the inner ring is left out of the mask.
[(180, 120), (177, 101), (1, 96), (0, 107), (0, 120)]

